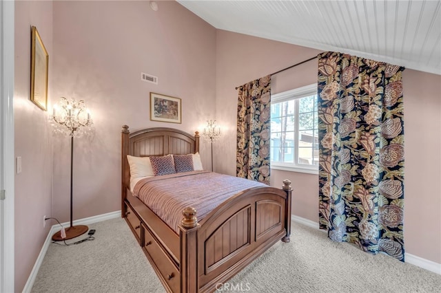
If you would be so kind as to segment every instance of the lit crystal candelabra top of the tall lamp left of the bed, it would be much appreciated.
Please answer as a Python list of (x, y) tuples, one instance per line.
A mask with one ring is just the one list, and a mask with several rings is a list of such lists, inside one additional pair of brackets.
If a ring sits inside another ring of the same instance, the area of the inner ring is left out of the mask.
[(54, 105), (52, 119), (56, 122), (57, 131), (72, 137), (92, 126), (92, 118), (84, 100), (76, 101), (74, 98), (61, 97), (57, 105)]

